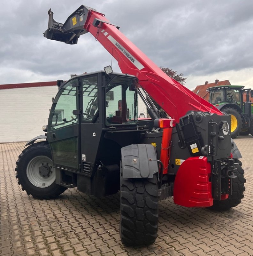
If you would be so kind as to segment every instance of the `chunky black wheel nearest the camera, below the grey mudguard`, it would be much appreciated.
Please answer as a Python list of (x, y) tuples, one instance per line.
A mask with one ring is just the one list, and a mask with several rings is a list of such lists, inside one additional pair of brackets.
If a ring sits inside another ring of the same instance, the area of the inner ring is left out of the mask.
[(120, 168), (120, 238), (123, 244), (152, 244), (157, 237), (158, 191), (153, 178), (125, 179)]

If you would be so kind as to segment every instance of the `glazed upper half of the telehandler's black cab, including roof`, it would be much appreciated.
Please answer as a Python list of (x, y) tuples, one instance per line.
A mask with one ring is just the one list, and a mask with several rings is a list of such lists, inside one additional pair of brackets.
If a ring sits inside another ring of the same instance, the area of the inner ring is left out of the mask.
[(135, 76), (104, 71), (74, 76), (59, 87), (48, 132), (76, 123), (137, 126), (138, 97)]

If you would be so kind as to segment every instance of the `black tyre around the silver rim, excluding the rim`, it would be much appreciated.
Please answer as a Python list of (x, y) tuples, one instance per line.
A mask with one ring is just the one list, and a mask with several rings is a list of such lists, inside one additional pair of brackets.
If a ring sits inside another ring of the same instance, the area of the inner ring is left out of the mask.
[[(49, 144), (47, 141), (40, 141), (37, 143), (34, 143), (30, 146), (28, 146), (27, 148), (25, 148), (22, 153), (19, 155), (19, 158), (16, 162), (16, 179), (18, 179), (18, 184), (21, 185), (22, 190), (26, 191), (27, 195), (31, 195), (33, 196), (35, 199), (53, 199), (56, 198), (57, 196), (59, 196), (60, 194), (62, 194), (67, 188), (57, 185), (55, 183), (53, 183), (51, 186), (51, 191), (50, 193), (45, 193), (43, 191), (43, 193), (41, 193), (41, 189), (38, 189), (37, 192), (36, 189), (34, 190), (34, 188), (36, 188), (33, 184), (31, 184), (26, 176), (26, 166), (28, 163), (26, 163), (26, 159), (24, 159), (25, 156), (27, 156), (27, 154), (30, 154), (31, 151), (33, 151), (34, 149), (49, 149)], [(30, 183), (30, 184), (29, 184)], [(42, 188), (43, 189), (43, 188)]]

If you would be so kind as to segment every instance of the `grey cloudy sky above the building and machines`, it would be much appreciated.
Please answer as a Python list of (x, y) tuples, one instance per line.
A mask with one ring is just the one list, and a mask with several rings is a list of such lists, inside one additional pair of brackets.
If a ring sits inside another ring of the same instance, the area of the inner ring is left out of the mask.
[(183, 73), (189, 89), (215, 79), (253, 88), (251, 0), (3, 0), (0, 84), (66, 80), (110, 65), (111, 55), (89, 34), (76, 45), (43, 37), (49, 8), (64, 23), (81, 4), (119, 25), (158, 66)]

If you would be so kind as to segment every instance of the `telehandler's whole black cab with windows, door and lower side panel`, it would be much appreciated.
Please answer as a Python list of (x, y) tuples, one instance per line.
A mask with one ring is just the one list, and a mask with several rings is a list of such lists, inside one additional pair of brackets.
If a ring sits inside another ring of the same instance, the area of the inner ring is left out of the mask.
[(135, 76), (105, 71), (61, 84), (47, 127), (53, 165), (90, 176), (97, 162), (119, 163), (120, 148), (141, 136), (137, 88)]

